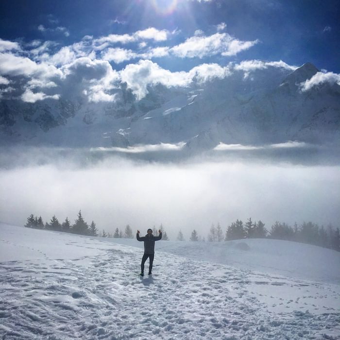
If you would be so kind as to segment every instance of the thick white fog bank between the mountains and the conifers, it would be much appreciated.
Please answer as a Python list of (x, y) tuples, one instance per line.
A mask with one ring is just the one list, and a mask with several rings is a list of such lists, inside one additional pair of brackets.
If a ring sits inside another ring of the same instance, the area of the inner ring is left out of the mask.
[(2, 154), (0, 221), (23, 225), (34, 214), (44, 222), (55, 215), (73, 223), (81, 209), (85, 221), (95, 221), (99, 230), (130, 224), (143, 233), (162, 223), (175, 239), (180, 229), (186, 238), (193, 229), (206, 238), (212, 223), (220, 222), (225, 231), (236, 219), (250, 217), (267, 229), (275, 221), (337, 226), (340, 220), (338, 165), (237, 158), (151, 163), (117, 156), (89, 165), (86, 155), (58, 154), (42, 162), (36, 150), (21, 153), (20, 166), (14, 166), (12, 153), (9, 168)]

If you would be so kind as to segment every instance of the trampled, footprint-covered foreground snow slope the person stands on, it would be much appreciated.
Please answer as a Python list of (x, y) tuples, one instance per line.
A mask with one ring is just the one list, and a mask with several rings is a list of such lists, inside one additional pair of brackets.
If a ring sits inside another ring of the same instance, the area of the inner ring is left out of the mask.
[(1, 339), (340, 339), (337, 285), (157, 250), (142, 278), (140, 249), (72, 246), (101, 252), (55, 259), (32, 245), (40, 259), (0, 262)]

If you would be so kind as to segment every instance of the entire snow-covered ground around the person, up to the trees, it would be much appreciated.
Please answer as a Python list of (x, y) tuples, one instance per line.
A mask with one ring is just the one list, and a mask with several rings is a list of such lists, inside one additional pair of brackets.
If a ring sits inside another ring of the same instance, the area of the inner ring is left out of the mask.
[(142, 246), (0, 224), (0, 337), (340, 339), (338, 252), (157, 241), (142, 278)]

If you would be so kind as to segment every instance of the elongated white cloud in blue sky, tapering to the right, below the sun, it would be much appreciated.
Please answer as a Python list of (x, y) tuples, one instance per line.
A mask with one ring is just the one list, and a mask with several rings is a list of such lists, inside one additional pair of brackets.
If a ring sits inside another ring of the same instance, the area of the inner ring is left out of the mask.
[(230, 56), (249, 49), (257, 42), (258, 40), (240, 41), (227, 33), (216, 33), (190, 37), (184, 43), (172, 47), (171, 52), (181, 58), (203, 58), (214, 54)]

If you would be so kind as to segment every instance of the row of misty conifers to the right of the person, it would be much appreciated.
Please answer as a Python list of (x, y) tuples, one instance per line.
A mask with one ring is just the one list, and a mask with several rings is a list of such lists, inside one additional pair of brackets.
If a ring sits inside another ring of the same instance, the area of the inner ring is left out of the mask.
[[(181, 233), (181, 232), (180, 232)], [(183, 235), (182, 235), (183, 237)], [(226, 229), (225, 234), (222, 231), (220, 223), (211, 225), (208, 233), (208, 241), (221, 242), (243, 238), (273, 238), (301, 243), (308, 243), (324, 248), (340, 251), (340, 229), (334, 228), (329, 224), (326, 228), (319, 227), (313, 222), (303, 222), (300, 226), (297, 223), (290, 226), (287, 223), (276, 221), (270, 231), (265, 228), (262, 221), (253, 222), (251, 218), (243, 223), (241, 220), (232, 222)], [(178, 240), (179, 237), (177, 238)], [(194, 229), (191, 233), (190, 241), (199, 241), (202, 239)]]

